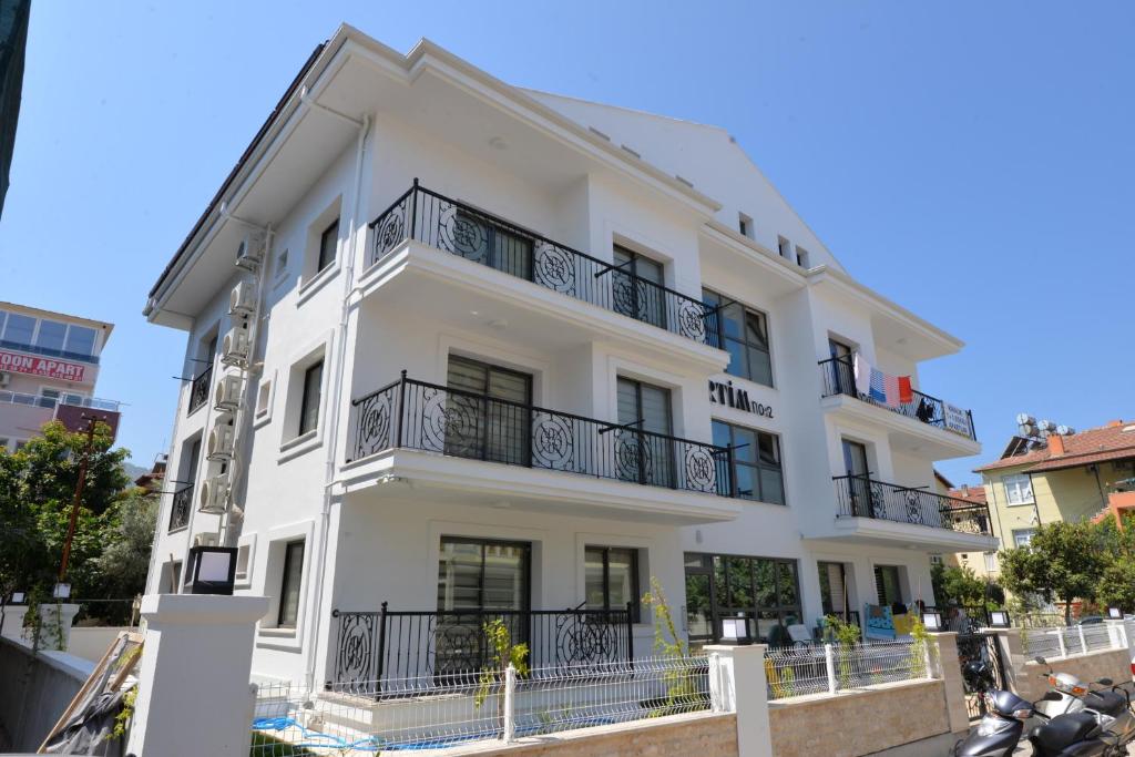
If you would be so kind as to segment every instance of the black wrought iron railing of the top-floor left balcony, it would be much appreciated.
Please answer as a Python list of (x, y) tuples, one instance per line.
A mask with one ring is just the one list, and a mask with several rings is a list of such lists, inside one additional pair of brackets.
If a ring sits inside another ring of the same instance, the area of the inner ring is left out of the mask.
[(700, 300), (431, 192), (418, 179), (370, 227), (368, 264), (417, 239), (695, 342), (716, 333), (716, 309)]

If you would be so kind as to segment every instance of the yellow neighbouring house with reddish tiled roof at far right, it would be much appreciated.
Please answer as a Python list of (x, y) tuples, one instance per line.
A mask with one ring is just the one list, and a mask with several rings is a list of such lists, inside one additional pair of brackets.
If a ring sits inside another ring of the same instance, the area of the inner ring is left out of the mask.
[[(1002, 548), (1020, 546), (1032, 539), (1037, 525), (1093, 519), (1108, 511), (1109, 495), (1130, 488), (1135, 423), (1116, 420), (1044, 439), (1014, 437), (1000, 460), (975, 472), (982, 474)], [(985, 572), (998, 572), (995, 561), (994, 556)]]

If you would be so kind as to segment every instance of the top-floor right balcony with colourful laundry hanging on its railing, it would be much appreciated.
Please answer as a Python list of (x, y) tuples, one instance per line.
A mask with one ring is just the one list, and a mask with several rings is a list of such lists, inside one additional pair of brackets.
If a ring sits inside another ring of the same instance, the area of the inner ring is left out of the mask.
[[(974, 432), (973, 413), (914, 389), (908, 403), (889, 405), (856, 388), (851, 358), (832, 358), (818, 363), (825, 411), (849, 419), (882, 423), (894, 447), (931, 460), (964, 457), (981, 452)], [(884, 411), (884, 412), (880, 412)]]

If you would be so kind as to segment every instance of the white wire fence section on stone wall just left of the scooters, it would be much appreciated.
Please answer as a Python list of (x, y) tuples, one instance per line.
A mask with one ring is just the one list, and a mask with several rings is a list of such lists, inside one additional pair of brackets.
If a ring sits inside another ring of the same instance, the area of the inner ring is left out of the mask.
[(832, 693), (931, 674), (928, 645), (918, 641), (825, 644), (770, 650), (765, 656), (768, 698)]

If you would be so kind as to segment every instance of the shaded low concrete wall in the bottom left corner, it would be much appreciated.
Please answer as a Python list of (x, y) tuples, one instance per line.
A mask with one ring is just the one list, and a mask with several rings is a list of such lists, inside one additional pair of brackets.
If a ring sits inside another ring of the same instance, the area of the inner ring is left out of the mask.
[(0, 638), (0, 751), (35, 751), (94, 664)]

